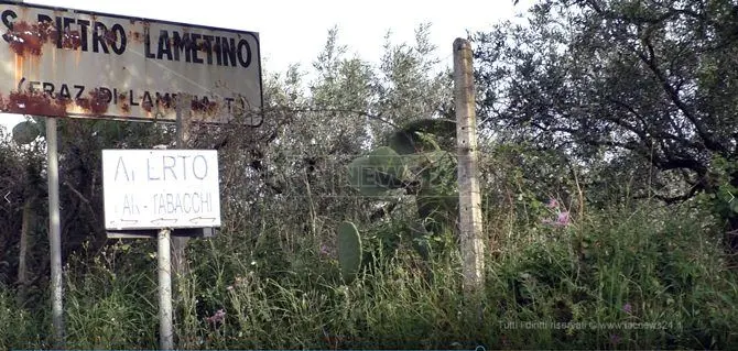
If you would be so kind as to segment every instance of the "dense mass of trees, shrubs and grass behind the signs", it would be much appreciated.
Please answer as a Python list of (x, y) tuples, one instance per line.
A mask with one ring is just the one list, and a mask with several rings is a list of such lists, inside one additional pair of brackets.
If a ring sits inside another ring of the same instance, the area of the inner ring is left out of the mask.
[[(736, 9), (543, 0), (528, 23), (470, 35), (481, 310), (460, 288), (454, 140), (439, 122), (454, 116), (438, 58), (451, 53), (422, 25), (415, 43), (388, 37), (371, 65), (330, 31), (312, 69), (264, 76), (263, 125), (193, 128), (191, 147), (218, 150), (224, 226), (186, 248), (177, 347), (737, 343)], [(43, 120), (24, 128), (0, 135), (0, 347), (17, 349), (52, 341), (45, 139), (29, 132)], [(173, 125), (59, 129), (67, 347), (156, 348), (155, 241), (106, 238), (100, 150), (171, 144)], [(403, 152), (408, 140), (423, 151)], [(350, 166), (379, 153), (406, 172), (384, 179), (389, 190), (356, 187)], [(350, 278), (338, 255), (347, 221), (362, 255)]]

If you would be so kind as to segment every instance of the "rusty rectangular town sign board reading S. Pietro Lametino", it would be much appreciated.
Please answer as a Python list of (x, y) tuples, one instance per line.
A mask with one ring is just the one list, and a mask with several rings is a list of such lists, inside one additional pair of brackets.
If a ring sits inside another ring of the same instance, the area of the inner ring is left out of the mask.
[(1, 111), (261, 123), (256, 32), (0, 0), (0, 34)]

